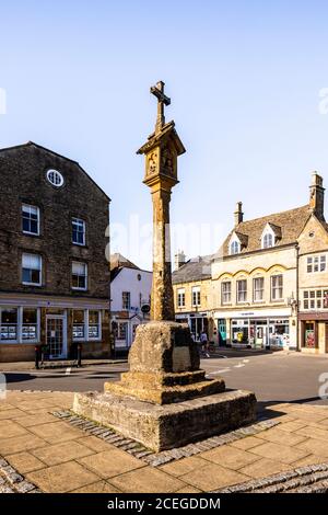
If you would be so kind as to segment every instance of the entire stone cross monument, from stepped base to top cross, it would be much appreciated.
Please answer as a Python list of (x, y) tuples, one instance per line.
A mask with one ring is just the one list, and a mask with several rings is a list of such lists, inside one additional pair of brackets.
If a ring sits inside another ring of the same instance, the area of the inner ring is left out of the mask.
[(137, 329), (129, 371), (118, 382), (105, 382), (104, 393), (77, 393), (73, 410), (163, 450), (253, 422), (256, 398), (253, 392), (225, 391), (220, 377), (208, 379), (188, 325), (175, 322), (169, 199), (185, 148), (175, 123), (165, 123), (164, 105), (171, 100), (164, 82), (151, 93), (159, 101), (155, 130), (138, 153), (145, 157), (143, 182), (153, 201), (152, 320)]

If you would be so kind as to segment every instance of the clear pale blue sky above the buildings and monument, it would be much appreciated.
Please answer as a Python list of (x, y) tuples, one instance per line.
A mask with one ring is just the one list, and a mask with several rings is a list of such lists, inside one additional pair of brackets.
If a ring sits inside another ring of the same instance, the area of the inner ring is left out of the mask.
[(162, 79), (187, 148), (172, 221), (214, 225), (200, 249), (213, 252), (236, 201), (254, 218), (307, 203), (312, 170), (328, 185), (327, 20), (324, 0), (1, 1), (0, 146), (34, 140), (78, 160), (112, 197), (113, 222), (148, 224), (136, 150)]

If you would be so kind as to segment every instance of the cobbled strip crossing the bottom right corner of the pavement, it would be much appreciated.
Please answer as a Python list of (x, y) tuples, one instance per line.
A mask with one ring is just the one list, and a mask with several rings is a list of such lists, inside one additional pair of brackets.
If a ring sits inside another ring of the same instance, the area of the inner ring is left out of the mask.
[(328, 464), (300, 467), (212, 493), (328, 493)]

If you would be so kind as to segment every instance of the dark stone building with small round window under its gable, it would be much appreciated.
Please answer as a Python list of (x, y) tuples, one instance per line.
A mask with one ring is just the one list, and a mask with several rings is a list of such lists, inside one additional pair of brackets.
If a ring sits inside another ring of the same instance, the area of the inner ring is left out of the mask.
[(0, 362), (109, 353), (109, 198), (34, 142), (0, 150)]

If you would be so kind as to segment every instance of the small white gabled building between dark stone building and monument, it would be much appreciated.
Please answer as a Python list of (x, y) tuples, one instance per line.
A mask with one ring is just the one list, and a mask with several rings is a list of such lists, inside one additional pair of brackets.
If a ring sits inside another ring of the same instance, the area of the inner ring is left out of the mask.
[(139, 268), (121, 254), (110, 256), (110, 320), (115, 351), (127, 352), (136, 330), (150, 320), (152, 272)]

